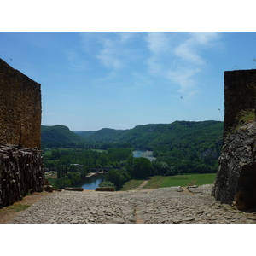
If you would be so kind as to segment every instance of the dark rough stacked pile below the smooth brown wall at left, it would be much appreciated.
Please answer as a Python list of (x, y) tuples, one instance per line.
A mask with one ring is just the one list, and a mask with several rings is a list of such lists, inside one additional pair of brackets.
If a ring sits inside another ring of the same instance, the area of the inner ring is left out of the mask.
[(37, 148), (0, 145), (0, 208), (20, 201), (25, 195), (42, 192), (43, 157)]

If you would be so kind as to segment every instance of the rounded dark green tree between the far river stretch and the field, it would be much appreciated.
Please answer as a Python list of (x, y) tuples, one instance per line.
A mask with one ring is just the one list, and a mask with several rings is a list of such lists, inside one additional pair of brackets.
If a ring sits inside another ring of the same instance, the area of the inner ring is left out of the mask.
[(147, 178), (153, 172), (153, 166), (148, 158), (139, 157), (134, 160), (133, 177)]

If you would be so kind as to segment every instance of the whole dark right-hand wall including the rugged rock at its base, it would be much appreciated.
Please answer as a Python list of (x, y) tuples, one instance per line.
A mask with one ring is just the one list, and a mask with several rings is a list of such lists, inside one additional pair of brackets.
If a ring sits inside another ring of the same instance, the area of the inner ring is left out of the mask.
[(256, 209), (256, 70), (224, 73), (224, 139), (212, 195)]

